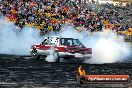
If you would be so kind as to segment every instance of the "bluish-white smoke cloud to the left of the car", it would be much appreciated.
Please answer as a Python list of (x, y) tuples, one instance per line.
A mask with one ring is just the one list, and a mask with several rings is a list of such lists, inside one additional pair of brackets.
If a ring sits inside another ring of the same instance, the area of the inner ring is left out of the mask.
[(0, 19), (0, 54), (29, 55), (31, 45), (40, 41), (36, 29), (25, 27), (20, 31), (13, 23)]

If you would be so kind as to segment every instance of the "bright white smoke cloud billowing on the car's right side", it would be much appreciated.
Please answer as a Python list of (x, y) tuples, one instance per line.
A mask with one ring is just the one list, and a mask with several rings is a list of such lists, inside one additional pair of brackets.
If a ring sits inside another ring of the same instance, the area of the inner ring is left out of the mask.
[(92, 48), (92, 58), (85, 63), (114, 63), (124, 61), (132, 56), (131, 45), (124, 42), (122, 36), (109, 31), (78, 33), (72, 26), (64, 27), (60, 33), (63, 37), (79, 39), (86, 47)]

